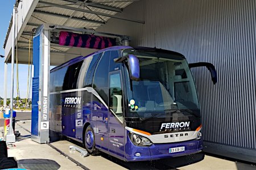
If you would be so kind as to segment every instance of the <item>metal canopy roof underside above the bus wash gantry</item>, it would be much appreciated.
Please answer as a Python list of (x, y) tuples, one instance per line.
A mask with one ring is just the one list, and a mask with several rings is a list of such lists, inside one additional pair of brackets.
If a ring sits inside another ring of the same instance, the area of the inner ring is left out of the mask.
[[(134, 1), (138, 0), (43, 0), (36, 2), (36, 5), (32, 10), (31, 15), (27, 19), (27, 22), (24, 22), (26, 26), (24, 26), (21, 33), (18, 33), (18, 62), (28, 63), (29, 41), (32, 41), (35, 28), (42, 24), (56, 25), (55, 30), (53, 30), (55, 33), (62, 30), (70, 30), (71, 32), (120, 37), (120, 35), (99, 33), (95, 32), (94, 30), (107, 23), (110, 18), (143, 24), (144, 21), (130, 19), (129, 16), (127, 16), (127, 18), (122, 18), (115, 15), (122, 12), (123, 8), (130, 5)], [(19, 6), (21, 5), (24, 6), (25, 4), (19, 4)], [(22, 18), (23, 17), (19, 17), (19, 20)], [(6, 41), (9, 38), (9, 33), (10, 31), (7, 32)], [(4, 48), (6, 46), (6, 41)], [(65, 62), (73, 57), (87, 55), (94, 51), (94, 49), (79, 49), (51, 43), (51, 64), (58, 65), (59, 63)], [(10, 56), (6, 56), (8, 59), (6, 61), (10, 62)]]

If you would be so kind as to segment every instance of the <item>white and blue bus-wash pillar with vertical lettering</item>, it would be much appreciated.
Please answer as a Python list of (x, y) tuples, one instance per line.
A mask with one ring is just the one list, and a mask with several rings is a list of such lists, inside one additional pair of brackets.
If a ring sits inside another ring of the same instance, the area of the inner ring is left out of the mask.
[(49, 142), (50, 35), (48, 26), (42, 25), (33, 40), (31, 139), (38, 143)]

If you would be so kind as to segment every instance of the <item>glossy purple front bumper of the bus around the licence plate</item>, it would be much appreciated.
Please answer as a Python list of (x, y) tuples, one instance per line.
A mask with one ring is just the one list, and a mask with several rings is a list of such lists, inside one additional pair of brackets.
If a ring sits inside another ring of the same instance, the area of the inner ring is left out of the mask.
[[(185, 141), (179, 143), (166, 143), (166, 144), (153, 144), (150, 147), (138, 147), (130, 143), (129, 153), (126, 154), (126, 161), (144, 161), (144, 160), (156, 160), (164, 158), (172, 158), (177, 156), (184, 156), (190, 154), (196, 154), (203, 149), (203, 139)], [(185, 151), (169, 153), (169, 148), (185, 147)], [(136, 156), (138, 155), (139, 156)]]

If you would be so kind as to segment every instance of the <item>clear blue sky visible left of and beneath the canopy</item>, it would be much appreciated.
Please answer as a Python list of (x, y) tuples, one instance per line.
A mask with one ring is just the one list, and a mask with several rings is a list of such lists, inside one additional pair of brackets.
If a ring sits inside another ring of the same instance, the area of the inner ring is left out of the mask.
[[(15, 0), (5, 0), (1, 1), (0, 5), (0, 54), (5, 56), (5, 49), (3, 49), (3, 44), (5, 42), (5, 37), (7, 33), (7, 29), (9, 27), (9, 22), (11, 20), (11, 14), (13, 13), (13, 6)], [(0, 58), (0, 96), (3, 98), (3, 80), (5, 75), (5, 65), (4, 58)], [(14, 97), (17, 96), (16, 92), (16, 65), (14, 65)], [(28, 74), (28, 65), (19, 65), (19, 91), (20, 97), (26, 98), (27, 96), (27, 74)], [(7, 85), (7, 98), (10, 98), (10, 90), (11, 90), (11, 63), (8, 63), (8, 85)]]

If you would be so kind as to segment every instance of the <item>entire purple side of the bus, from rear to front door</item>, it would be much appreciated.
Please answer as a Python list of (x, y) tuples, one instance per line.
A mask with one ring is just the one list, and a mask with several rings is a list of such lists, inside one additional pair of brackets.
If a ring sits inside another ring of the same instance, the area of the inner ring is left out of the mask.
[(105, 51), (51, 73), (50, 128), (82, 141), (89, 123), (96, 147), (123, 159), (122, 66), (114, 62), (118, 57), (117, 50)]

